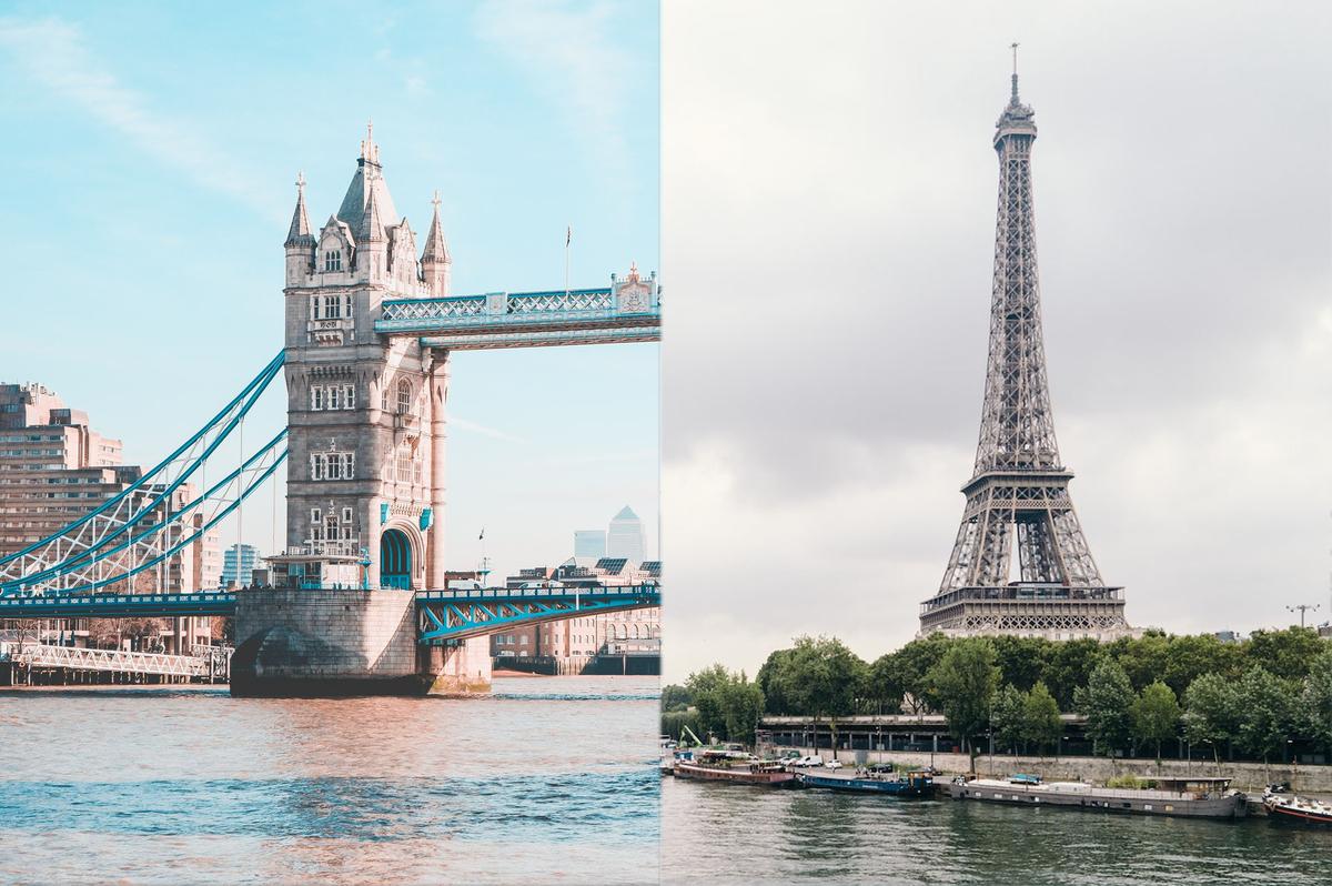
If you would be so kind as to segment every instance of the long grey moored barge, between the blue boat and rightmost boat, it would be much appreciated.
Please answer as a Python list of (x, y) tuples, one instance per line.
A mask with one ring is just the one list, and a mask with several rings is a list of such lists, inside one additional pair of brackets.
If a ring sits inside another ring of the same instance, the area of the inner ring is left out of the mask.
[(1231, 790), (1229, 778), (1158, 778), (1155, 789), (1095, 787), (1086, 782), (1022, 782), (998, 778), (954, 779), (948, 795), (1010, 806), (1056, 806), (1140, 815), (1184, 818), (1243, 818), (1244, 794)]

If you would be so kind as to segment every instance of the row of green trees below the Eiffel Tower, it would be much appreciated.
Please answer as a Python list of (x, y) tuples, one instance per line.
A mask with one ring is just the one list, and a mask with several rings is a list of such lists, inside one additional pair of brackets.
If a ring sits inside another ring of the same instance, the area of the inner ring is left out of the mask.
[(1300, 628), (1241, 644), (1160, 633), (1112, 644), (934, 634), (866, 662), (839, 640), (801, 637), (770, 654), (753, 682), (714, 665), (667, 686), (663, 710), (673, 706), (733, 741), (753, 739), (759, 711), (819, 717), (834, 729), (848, 714), (936, 711), (972, 750), (991, 734), (1003, 749), (1039, 753), (1058, 746), (1060, 711), (1078, 711), (1098, 753), (1147, 746), (1159, 755), (1183, 735), (1217, 757), (1237, 747), (1269, 759), (1296, 739), (1332, 745), (1332, 652)]

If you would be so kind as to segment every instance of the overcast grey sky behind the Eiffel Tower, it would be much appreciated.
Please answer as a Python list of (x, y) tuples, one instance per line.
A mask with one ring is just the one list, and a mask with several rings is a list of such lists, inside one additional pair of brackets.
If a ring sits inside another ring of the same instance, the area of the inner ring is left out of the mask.
[(975, 452), (1014, 40), (1102, 573), (1138, 626), (1327, 618), (1325, 7), (922, 5), (665, 4), (665, 678), (914, 636)]

